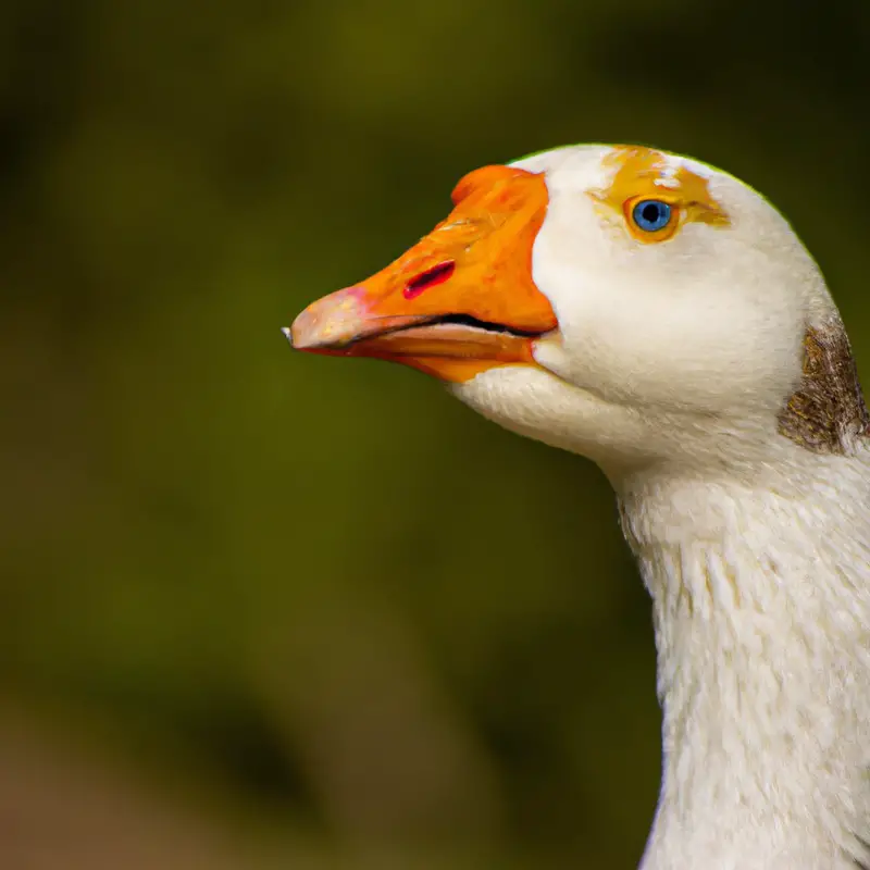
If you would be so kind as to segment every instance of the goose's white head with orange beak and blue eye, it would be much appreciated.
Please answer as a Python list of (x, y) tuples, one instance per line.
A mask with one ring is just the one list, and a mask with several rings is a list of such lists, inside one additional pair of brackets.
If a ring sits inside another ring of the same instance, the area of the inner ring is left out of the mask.
[(793, 447), (808, 336), (850, 364), (788, 223), (706, 164), (574, 146), (476, 170), (452, 199), (386, 269), (309, 306), (293, 345), (412, 365), (611, 478)]

